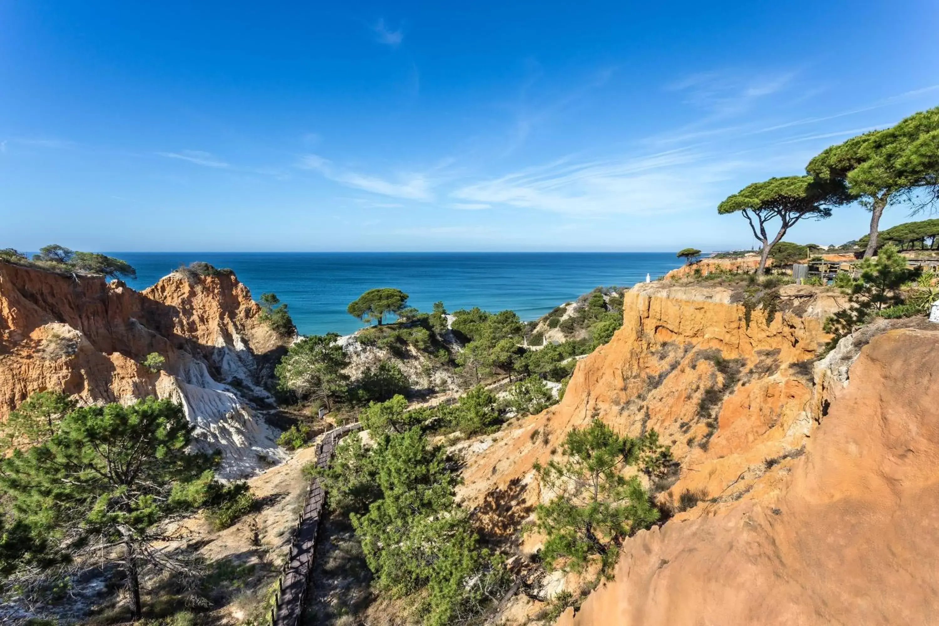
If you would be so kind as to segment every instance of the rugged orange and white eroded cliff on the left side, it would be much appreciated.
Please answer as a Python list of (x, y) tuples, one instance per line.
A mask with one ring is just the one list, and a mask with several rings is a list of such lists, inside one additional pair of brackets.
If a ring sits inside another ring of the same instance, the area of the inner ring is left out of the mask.
[[(29, 394), (60, 389), (83, 403), (177, 400), (223, 474), (284, 456), (257, 413), (283, 342), (230, 274), (173, 273), (143, 292), (100, 277), (0, 263), (0, 420)], [(156, 352), (162, 371), (141, 361)]]

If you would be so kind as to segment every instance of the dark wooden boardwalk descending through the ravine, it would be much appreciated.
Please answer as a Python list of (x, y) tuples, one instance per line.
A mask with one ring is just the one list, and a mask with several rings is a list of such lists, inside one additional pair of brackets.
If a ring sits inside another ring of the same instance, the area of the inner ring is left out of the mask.
[[(358, 423), (347, 424), (323, 435), (316, 450), (316, 466), (329, 466), (332, 450), (339, 440), (360, 428), (362, 425)], [(326, 492), (319, 481), (314, 479), (308, 488), (306, 502), (297, 521), (297, 532), (287, 552), (284, 573), (277, 583), (278, 591), (269, 615), (271, 626), (300, 626), (302, 622), (313, 558), (316, 555), (316, 535), (325, 503)]]

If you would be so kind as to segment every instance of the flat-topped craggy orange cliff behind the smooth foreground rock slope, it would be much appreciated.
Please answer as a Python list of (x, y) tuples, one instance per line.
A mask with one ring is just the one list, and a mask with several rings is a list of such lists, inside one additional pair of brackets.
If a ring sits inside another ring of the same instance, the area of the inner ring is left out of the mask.
[(654, 429), (670, 443), (682, 470), (662, 497), (747, 490), (764, 459), (805, 443), (813, 359), (828, 339), (824, 317), (841, 302), (824, 289), (788, 285), (778, 313), (757, 309), (747, 324), (738, 298), (731, 289), (668, 282), (626, 292), (623, 328), (577, 364), (559, 405), (492, 435), (467, 466), (464, 496), (473, 503), (521, 491), (531, 504), (532, 464), (593, 418), (629, 435)]

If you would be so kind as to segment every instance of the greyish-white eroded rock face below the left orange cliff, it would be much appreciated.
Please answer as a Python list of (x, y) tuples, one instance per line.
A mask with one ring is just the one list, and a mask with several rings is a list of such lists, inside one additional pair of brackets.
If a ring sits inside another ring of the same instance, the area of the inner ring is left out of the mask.
[(236, 389), (212, 378), (200, 361), (187, 359), (177, 375), (162, 374), (157, 393), (183, 406), (195, 426), (196, 448), (222, 451), (220, 478), (252, 476), (288, 457), (277, 445), (279, 432), (240, 400)]

